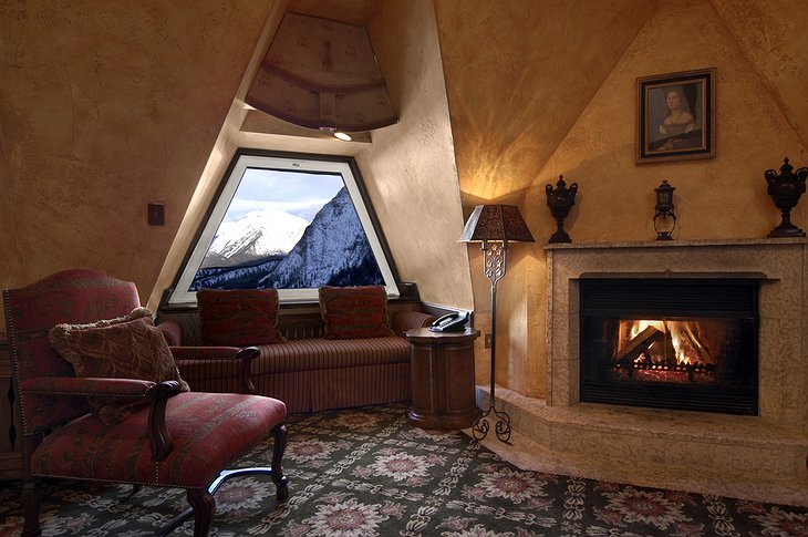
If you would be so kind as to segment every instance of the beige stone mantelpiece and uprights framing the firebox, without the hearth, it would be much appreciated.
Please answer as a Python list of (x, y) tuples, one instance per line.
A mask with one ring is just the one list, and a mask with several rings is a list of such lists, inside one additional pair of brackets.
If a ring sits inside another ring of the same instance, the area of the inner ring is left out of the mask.
[(582, 277), (760, 278), (759, 417), (808, 431), (808, 240), (733, 239), (546, 245), (547, 404), (579, 403)]

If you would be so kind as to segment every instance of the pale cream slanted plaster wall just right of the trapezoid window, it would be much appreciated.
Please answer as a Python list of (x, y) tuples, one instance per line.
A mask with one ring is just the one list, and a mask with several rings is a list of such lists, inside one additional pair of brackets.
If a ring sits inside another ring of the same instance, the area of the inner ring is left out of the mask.
[(467, 247), (431, 0), (382, 2), (367, 32), (400, 122), (358, 163), (398, 273), (422, 300), (472, 309)]

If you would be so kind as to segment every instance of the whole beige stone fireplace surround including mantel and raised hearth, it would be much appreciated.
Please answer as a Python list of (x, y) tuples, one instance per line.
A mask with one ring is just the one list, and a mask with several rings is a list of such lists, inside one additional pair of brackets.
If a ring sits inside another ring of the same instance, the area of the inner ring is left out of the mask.
[[(610, 469), (579, 475), (808, 505), (807, 247), (806, 239), (547, 245), (547, 399), (498, 390), (514, 431), (573, 466)], [(581, 403), (579, 291), (588, 278), (759, 281), (758, 415)]]

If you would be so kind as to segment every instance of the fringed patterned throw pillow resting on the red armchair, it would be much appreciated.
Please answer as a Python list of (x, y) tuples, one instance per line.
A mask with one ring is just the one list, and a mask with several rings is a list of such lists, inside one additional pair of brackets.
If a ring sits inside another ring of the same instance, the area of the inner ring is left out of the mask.
[[(56, 352), (73, 364), (76, 376), (178, 381), (182, 391), (189, 391), (163, 332), (155, 328), (146, 308), (90, 324), (56, 324), (49, 339)], [(89, 396), (87, 402), (107, 425), (120, 423), (149, 404), (145, 400), (99, 396)]]

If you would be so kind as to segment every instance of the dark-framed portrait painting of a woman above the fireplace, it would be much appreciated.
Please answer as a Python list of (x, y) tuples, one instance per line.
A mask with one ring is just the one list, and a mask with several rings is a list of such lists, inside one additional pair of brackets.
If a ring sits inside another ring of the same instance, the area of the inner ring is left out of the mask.
[(715, 156), (715, 69), (636, 79), (636, 162)]

